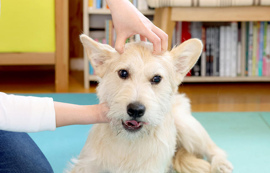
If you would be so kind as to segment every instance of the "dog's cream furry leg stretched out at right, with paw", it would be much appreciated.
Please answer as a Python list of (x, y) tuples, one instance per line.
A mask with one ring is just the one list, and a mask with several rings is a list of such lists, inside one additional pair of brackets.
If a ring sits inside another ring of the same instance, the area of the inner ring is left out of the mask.
[[(175, 107), (173, 112), (177, 129), (178, 149), (183, 148), (193, 156), (193, 161), (199, 161), (200, 163), (203, 163), (203, 160), (196, 160), (195, 156), (197, 158), (198, 156), (206, 156), (211, 164), (209, 170), (211, 173), (231, 173), (233, 166), (226, 159), (226, 153), (215, 145), (203, 126), (191, 115), (191, 112), (181, 106)], [(180, 163), (187, 162), (191, 155), (178, 154), (179, 158), (176, 159)], [(181, 156), (189, 157), (185, 159), (184, 157), (181, 158)], [(193, 164), (192, 162), (189, 165)], [(205, 166), (207, 167), (207, 165)]]

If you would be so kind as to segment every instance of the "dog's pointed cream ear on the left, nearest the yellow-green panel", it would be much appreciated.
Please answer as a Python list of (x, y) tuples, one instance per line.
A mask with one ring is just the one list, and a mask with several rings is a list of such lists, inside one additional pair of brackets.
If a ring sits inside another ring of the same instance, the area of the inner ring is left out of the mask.
[(97, 76), (102, 77), (101, 66), (107, 59), (117, 53), (110, 45), (96, 42), (85, 34), (80, 35), (80, 40), (84, 45), (86, 54), (95, 70)]

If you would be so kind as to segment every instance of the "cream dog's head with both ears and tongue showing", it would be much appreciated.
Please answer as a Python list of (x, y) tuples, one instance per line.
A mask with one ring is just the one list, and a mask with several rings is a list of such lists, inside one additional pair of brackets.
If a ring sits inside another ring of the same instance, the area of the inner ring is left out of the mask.
[(108, 102), (111, 128), (129, 140), (142, 138), (159, 126), (186, 73), (197, 62), (202, 42), (190, 39), (162, 55), (149, 42), (131, 42), (119, 54), (109, 45), (80, 36), (98, 76), (97, 95)]

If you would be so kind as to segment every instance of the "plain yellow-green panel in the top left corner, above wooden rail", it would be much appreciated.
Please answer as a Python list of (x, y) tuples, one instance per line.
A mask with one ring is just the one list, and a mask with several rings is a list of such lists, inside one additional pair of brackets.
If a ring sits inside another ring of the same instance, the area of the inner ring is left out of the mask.
[(1, 0), (0, 52), (55, 52), (54, 0)]

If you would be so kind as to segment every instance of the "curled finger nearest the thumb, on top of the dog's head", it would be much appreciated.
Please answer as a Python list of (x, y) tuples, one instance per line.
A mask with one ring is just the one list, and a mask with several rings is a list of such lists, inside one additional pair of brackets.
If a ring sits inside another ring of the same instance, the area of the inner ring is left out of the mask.
[(145, 29), (140, 35), (146, 37), (150, 42), (153, 43), (154, 54), (159, 54), (161, 52), (161, 40), (154, 32), (149, 29)]

